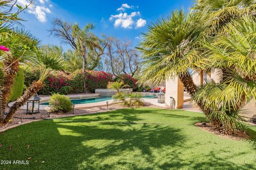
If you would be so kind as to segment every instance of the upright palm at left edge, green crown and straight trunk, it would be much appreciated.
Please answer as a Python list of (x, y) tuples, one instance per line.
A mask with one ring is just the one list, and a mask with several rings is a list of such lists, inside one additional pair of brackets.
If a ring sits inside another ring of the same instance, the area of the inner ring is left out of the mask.
[(4, 72), (4, 82), (2, 87), (1, 114), (5, 112), (5, 106), (10, 95), (11, 86), (17, 72), (20, 62), (35, 62), (35, 49), (39, 40), (31, 36), (28, 32), (14, 32), (9, 30), (1, 32), (0, 44), (10, 49), (9, 52), (1, 51), (2, 70)]

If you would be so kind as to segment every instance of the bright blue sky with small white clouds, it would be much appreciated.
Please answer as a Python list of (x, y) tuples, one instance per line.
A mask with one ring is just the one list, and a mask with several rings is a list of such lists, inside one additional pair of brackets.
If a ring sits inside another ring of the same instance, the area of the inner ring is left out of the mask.
[[(18, 4), (26, 6), (28, 0), (18, 0)], [(59, 45), (64, 50), (70, 47), (47, 32), (54, 18), (76, 22), (81, 27), (93, 23), (95, 35), (129, 39), (136, 46), (148, 25), (175, 9), (186, 11), (192, 4), (191, 0), (34, 0), (20, 17), (26, 20), (21, 22), (22, 27), (41, 39), (42, 44)]]

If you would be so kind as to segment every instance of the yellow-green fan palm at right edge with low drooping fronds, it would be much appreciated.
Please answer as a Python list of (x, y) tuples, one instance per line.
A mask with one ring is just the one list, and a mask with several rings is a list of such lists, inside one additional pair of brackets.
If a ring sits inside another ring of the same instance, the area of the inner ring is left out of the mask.
[(208, 67), (225, 68), (220, 83), (205, 83), (193, 97), (206, 108), (211, 117), (219, 120), (221, 131), (232, 134), (243, 130), (239, 114), (251, 98), (256, 98), (256, 22), (247, 15), (239, 21), (231, 20), (211, 43), (205, 42), (205, 55), (211, 61)]

